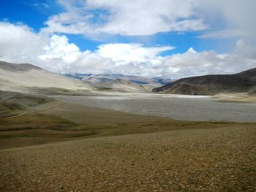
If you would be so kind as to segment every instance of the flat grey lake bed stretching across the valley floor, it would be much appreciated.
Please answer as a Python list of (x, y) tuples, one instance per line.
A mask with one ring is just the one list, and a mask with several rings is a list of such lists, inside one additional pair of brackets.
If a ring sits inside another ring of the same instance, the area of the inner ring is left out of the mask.
[(207, 96), (119, 93), (108, 96), (57, 96), (61, 101), (179, 120), (256, 122), (256, 103), (219, 102)]

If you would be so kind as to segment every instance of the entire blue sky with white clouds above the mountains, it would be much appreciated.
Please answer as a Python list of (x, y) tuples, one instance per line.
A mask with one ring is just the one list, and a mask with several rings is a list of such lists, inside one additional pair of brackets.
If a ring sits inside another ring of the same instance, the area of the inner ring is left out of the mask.
[(0, 61), (178, 79), (256, 67), (255, 0), (1, 0)]

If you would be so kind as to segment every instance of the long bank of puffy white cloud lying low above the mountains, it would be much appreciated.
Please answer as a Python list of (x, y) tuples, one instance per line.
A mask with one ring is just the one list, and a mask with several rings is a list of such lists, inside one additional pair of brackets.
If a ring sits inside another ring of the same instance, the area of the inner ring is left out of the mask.
[[(12, 37), (10, 37), (12, 33)], [(230, 54), (214, 51), (160, 56), (173, 47), (140, 44), (99, 45), (94, 52), (81, 51), (62, 35), (37, 34), (22, 24), (0, 23), (0, 60), (31, 63), (53, 72), (121, 73), (151, 77), (187, 77), (200, 74), (241, 72), (256, 66), (255, 46), (238, 40)]]

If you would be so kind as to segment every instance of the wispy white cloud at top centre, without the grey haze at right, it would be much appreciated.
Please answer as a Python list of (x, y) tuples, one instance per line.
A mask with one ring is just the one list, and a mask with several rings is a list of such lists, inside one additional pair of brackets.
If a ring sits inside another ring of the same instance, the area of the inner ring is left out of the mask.
[(87, 36), (138, 36), (168, 31), (199, 31), (208, 27), (196, 12), (196, 1), (192, 0), (184, 0), (182, 4), (179, 0), (151, 0), (150, 3), (147, 0), (59, 2), (67, 12), (51, 17), (42, 31)]

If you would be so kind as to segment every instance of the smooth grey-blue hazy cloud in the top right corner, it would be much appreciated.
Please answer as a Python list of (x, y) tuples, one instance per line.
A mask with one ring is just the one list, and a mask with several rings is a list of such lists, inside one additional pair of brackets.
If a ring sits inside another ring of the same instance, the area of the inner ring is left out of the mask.
[[(203, 12), (203, 17), (207, 19), (216, 15), (214, 22), (220, 24), (200, 38), (246, 38), (255, 41), (255, 7), (255, 0), (201, 1), (200, 12)], [(211, 16), (207, 12), (211, 12)]]

